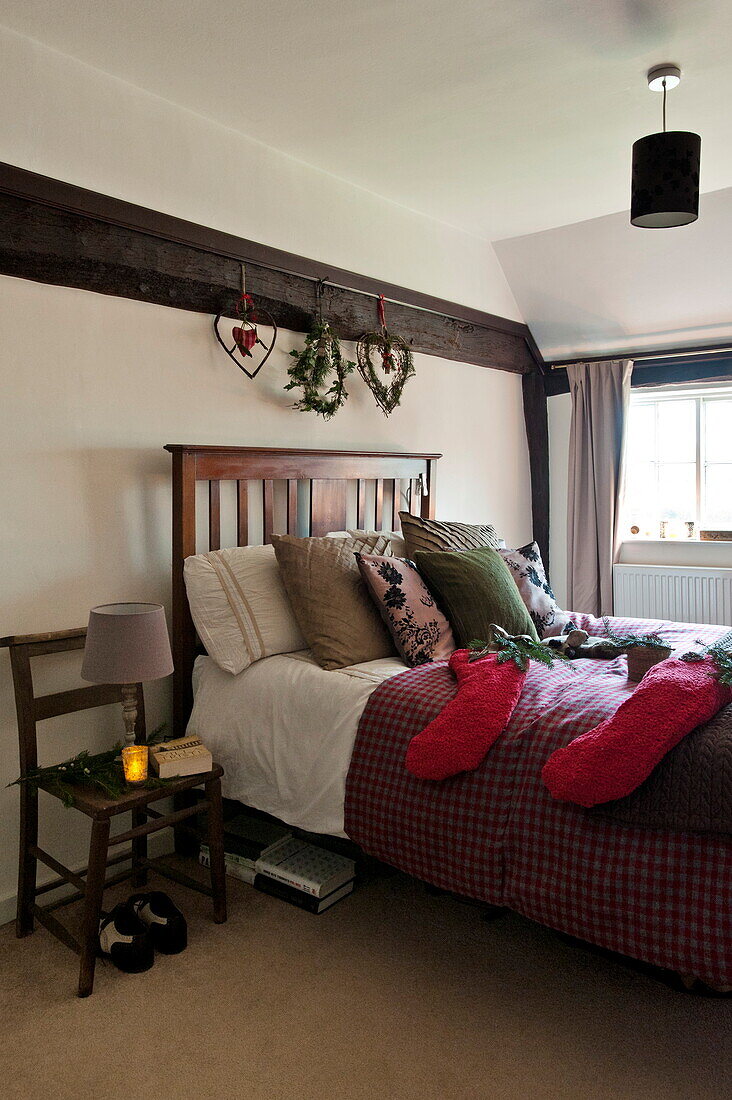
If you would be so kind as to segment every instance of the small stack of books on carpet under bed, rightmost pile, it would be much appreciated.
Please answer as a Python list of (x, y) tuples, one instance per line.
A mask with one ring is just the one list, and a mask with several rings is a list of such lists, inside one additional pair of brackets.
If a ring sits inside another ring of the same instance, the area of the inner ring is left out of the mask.
[(254, 887), (298, 905), (323, 913), (353, 889), (356, 864), (336, 853), (287, 837), (263, 851), (254, 864)]

